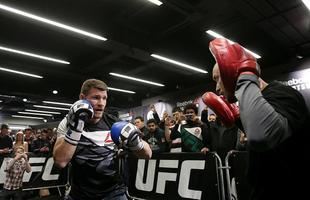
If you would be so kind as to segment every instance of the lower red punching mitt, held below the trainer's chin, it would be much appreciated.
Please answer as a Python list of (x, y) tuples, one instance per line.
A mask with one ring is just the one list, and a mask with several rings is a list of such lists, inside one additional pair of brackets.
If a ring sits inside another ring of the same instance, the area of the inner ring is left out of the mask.
[(228, 103), (223, 96), (217, 96), (213, 92), (206, 92), (202, 95), (202, 101), (215, 112), (224, 126), (228, 128), (232, 127), (239, 118), (238, 106), (234, 103)]

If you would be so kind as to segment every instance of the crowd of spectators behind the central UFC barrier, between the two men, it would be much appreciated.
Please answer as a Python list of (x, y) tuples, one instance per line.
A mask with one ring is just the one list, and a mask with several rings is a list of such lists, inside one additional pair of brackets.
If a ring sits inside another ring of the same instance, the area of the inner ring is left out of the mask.
[(208, 107), (199, 115), (197, 106), (188, 104), (183, 109), (174, 108), (172, 113), (165, 111), (159, 117), (151, 106), (146, 122), (143, 116), (135, 116), (132, 123), (140, 129), (141, 138), (150, 144), (153, 155), (212, 151), (224, 160), (230, 150), (245, 150), (245, 133), (236, 126), (226, 128), (216, 114), (208, 113)]

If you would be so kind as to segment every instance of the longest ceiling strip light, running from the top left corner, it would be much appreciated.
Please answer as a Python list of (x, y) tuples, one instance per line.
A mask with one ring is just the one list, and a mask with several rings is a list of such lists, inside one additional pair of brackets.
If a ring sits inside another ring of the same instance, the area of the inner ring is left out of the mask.
[(100, 35), (96, 35), (96, 34), (93, 34), (93, 33), (87, 32), (87, 31), (83, 31), (81, 29), (74, 28), (72, 26), (68, 26), (68, 25), (65, 25), (65, 24), (62, 24), (62, 23), (59, 23), (59, 22), (56, 22), (56, 21), (52, 21), (50, 19), (46, 19), (46, 18), (43, 18), (43, 17), (37, 16), (37, 15), (31, 14), (31, 13), (27, 13), (27, 12), (24, 12), (22, 10), (18, 10), (16, 8), (12, 8), (12, 7), (6, 6), (4, 4), (0, 4), (0, 9), (8, 11), (10, 13), (21, 15), (21, 16), (24, 16), (24, 17), (27, 17), (27, 18), (39, 21), (39, 22), (43, 22), (45, 24), (56, 26), (56, 27), (61, 28), (61, 29), (65, 29), (65, 30), (68, 30), (68, 31), (71, 31), (71, 32), (79, 33), (81, 35), (85, 35), (85, 36), (88, 36), (88, 37), (91, 37), (91, 38), (95, 38), (95, 39), (103, 40), (103, 41), (107, 40), (107, 38), (104, 38), (104, 37), (102, 37)]

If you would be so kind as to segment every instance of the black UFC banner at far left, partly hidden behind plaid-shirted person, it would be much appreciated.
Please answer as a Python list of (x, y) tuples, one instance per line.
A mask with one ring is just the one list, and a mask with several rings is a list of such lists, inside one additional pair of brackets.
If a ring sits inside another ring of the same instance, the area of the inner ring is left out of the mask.
[[(0, 188), (2, 188), (5, 181), (6, 173), (4, 170), (8, 159), (11, 158), (0, 160)], [(67, 168), (59, 169), (55, 167), (53, 157), (29, 155), (29, 163), (31, 172), (25, 172), (24, 174), (23, 189), (63, 186), (67, 183)]]

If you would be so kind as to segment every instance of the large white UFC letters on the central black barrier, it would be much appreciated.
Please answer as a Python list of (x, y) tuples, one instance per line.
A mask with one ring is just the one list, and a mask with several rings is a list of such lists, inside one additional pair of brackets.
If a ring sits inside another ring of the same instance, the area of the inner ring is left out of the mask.
[[(178, 169), (179, 160), (160, 160), (159, 168)], [(185, 160), (181, 164), (179, 174), (178, 193), (183, 198), (201, 199), (202, 191), (189, 189), (189, 181), (191, 170), (204, 170), (205, 160)], [(145, 160), (138, 160), (137, 175), (135, 186), (138, 190), (151, 192), (154, 188), (156, 160), (149, 160), (148, 169), (146, 173), (146, 181), (143, 182), (143, 174), (145, 170)], [(160, 169), (159, 169), (160, 170)], [(158, 172), (156, 193), (164, 194), (167, 181), (176, 181), (177, 173), (172, 172)]]

